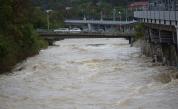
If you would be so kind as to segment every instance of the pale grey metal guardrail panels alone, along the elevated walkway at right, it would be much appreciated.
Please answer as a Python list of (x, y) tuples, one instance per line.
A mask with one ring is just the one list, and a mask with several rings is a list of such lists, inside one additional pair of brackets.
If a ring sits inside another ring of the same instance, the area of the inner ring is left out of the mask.
[(135, 11), (135, 18), (178, 21), (178, 11)]

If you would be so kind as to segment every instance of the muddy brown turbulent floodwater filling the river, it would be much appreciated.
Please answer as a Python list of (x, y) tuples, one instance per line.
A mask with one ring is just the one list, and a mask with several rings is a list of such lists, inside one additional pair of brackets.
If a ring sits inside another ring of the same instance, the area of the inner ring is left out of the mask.
[(124, 39), (68, 39), (0, 75), (0, 109), (178, 109), (176, 76)]

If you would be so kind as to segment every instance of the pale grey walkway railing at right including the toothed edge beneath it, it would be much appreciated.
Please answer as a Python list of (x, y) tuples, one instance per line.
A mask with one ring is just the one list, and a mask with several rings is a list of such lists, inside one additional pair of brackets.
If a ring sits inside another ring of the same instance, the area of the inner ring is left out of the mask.
[[(177, 25), (178, 11), (135, 11), (134, 17), (137, 19), (144, 19), (144, 22), (148, 23), (157, 23), (157, 21), (158, 23), (162, 23), (163, 21), (165, 24)], [(170, 22), (166, 23), (167, 21)]]

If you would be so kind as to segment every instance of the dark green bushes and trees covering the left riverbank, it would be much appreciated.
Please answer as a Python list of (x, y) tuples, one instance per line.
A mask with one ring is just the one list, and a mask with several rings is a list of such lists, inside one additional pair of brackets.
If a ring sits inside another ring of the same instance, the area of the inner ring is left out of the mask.
[[(0, 0), (0, 73), (38, 54), (47, 42), (38, 36), (32, 19), (34, 7), (28, 0)], [(39, 19), (38, 24), (40, 22)]]

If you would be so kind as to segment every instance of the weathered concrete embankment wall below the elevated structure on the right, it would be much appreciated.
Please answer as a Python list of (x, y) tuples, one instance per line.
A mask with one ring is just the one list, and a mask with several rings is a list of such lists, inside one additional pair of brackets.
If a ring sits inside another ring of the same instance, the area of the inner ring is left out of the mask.
[(172, 44), (151, 43), (142, 40), (142, 53), (148, 57), (152, 57), (153, 61), (158, 61), (164, 65), (177, 66), (178, 52), (177, 47)]

